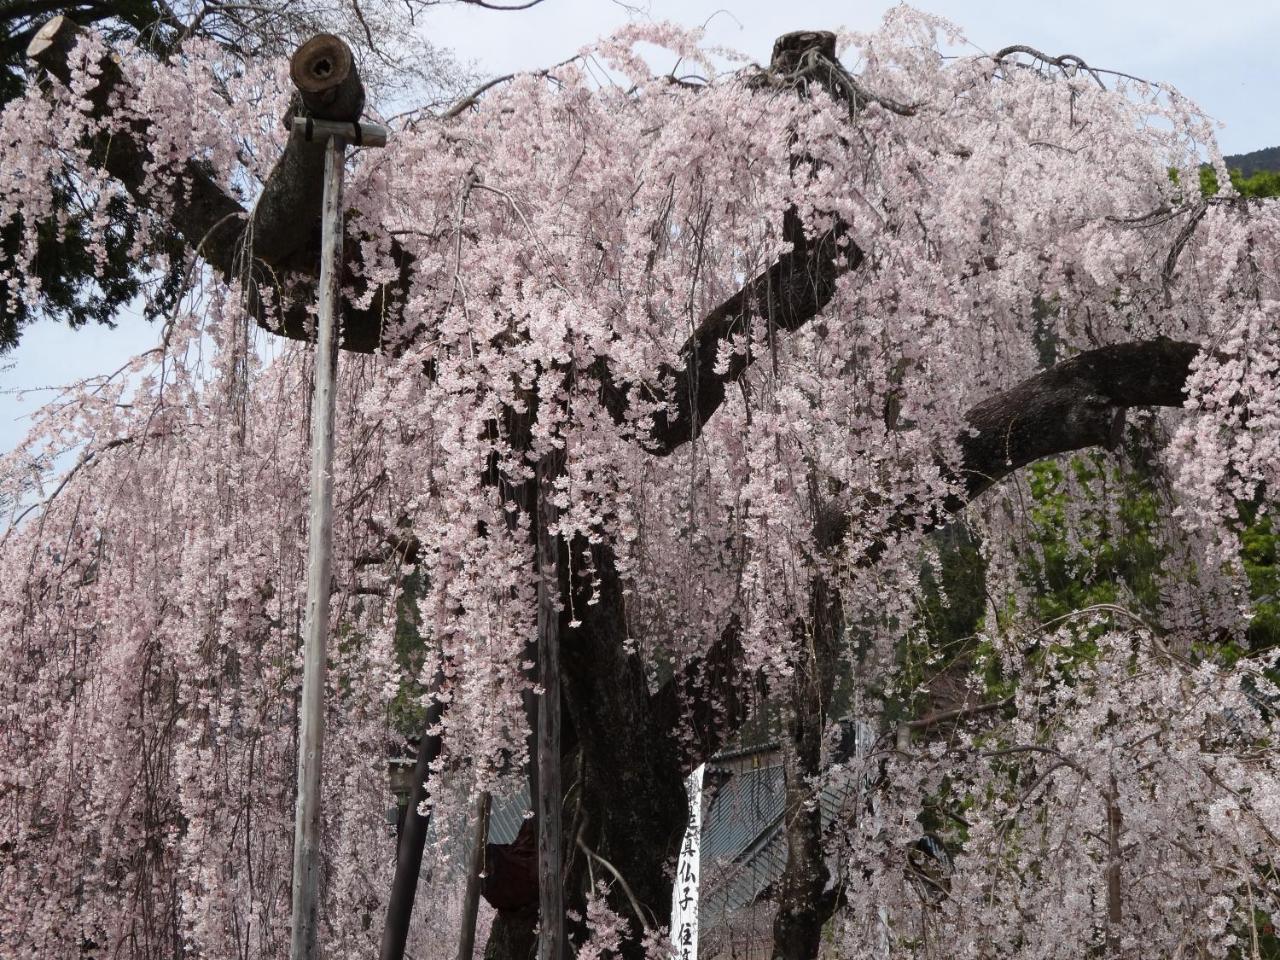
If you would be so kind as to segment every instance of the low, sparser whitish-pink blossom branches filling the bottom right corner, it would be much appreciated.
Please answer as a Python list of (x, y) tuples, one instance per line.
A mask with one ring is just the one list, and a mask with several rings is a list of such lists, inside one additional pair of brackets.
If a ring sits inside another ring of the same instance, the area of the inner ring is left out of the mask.
[(1121, 608), (1019, 640), (995, 718), (831, 768), (841, 955), (1248, 955), (1280, 914), (1274, 657), (1193, 662)]

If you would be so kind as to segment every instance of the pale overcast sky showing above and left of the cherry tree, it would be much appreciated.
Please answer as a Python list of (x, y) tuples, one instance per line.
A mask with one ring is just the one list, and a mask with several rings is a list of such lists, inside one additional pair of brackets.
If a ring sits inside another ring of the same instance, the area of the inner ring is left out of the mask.
[[(957, 23), (980, 50), (1029, 44), (1051, 54), (1075, 54), (1096, 67), (1169, 81), (1226, 124), (1220, 132), (1226, 154), (1280, 146), (1280, 114), (1274, 108), (1280, 0), (920, 0), (916, 5)], [(518, 13), (434, 8), (422, 28), (483, 73), (499, 74), (558, 63), (634, 17), (705, 23), (709, 44), (765, 61), (780, 33), (870, 29), (890, 6), (883, 0), (544, 0)], [(27, 429), (24, 411), (47, 396), (31, 394), (19, 403), (14, 390), (115, 370), (154, 346), (156, 333), (128, 316), (115, 330), (69, 332), (47, 323), (29, 329), (17, 351), (0, 357), (0, 451), (18, 443)]]

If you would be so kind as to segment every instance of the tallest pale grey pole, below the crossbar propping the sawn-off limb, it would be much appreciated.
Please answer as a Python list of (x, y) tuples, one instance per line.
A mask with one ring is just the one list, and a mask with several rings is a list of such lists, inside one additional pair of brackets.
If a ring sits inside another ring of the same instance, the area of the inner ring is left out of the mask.
[(307, 527), (307, 613), (303, 632), (298, 806), (293, 823), (291, 960), (320, 956), (320, 767), (324, 753), (325, 635), (333, 548), (333, 411), (338, 370), (337, 314), (342, 278), (342, 174), (346, 142), (330, 136), (324, 159), (320, 238), (320, 323), (311, 398), (311, 511)]

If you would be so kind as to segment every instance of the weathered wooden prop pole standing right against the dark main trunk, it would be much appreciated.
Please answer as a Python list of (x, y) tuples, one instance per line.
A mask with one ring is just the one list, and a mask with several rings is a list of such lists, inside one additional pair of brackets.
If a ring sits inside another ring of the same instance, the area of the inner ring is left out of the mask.
[(563, 827), (559, 758), (559, 575), (553, 497), (553, 458), (538, 463), (538, 960), (562, 960), (564, 951)]

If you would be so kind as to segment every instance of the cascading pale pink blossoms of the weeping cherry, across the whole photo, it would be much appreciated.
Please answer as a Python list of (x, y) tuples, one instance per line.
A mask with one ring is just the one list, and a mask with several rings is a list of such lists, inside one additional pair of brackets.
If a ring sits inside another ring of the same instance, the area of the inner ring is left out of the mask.
[[(1192, 339), (1204, 352), (1187, 410), (1161, 421), (1176, 434), (1167, 507), (1188, 529), (1169, 620), (1183, 636), (1221, 626), (1190, 588), (1231, 566), (1230, 500), (1265, 500), (1280, 463), (1275, 211), (1199, 196), (1199, 164), (1221, 157), (1176, 91), (1025, 55), (947, 58), (952, 33), (899, 8), (845, 36), (863, 90), (850, 101), (717, 73), (696, 33), (637, 28), (357, 155), (365, 278), (399, 275), (393, 237), (413, 270), (385, 349), (339, 370), (330, 952), (367, 955), (378, 936), (401, 691), (447, 704), (433, 863), (468, 796), (511, 788), (526, 759), (536, 580), (513, 492), (539, 463), (563, 463), (552, 532), (612, 550), (627, 643), (655, 684), (731, 620), (744, 675), (803, 668), (796, 623), (819, 579), (878, 682), (915, 616), (925, 531), (957, 489), (965, 411), (1046, 357)], [(641, 41), (705, 83), (653, 77)], [(116, 51), (131, 96), (101, 119), (84, 104), (102, 50), (83, 42), (68, 86), (0, 115), (0, 220), (56, 223), (50, 178), (90, 205), (123, 196), (87, 146), (113, 133), (145, 132), (147, 179), (128, 202), (156, 230), (188, 160), (259, 189), (283, 147), (282, 68), (209, 45), (164, 64)], [(748, 372), (692, 442), (657, 456), (675, 387), (662, 371), (792, 248), (788, 218), (810, 238), (836, 230), (863, 265), (801, 329), (742, 316), (717, 361), (749, 357)], [(0, 296), (38, 305), (33, 278), (0, 276)], [(0, 943), (18, 956), (285, 950), (311, 362), (256, 330), (237, 283), (193, 264), (161, 346), (69, 389), (4, 460)], [(625, 415), (605, 387), (626, 393)], [(986, 517), (1011, 535), (1023, 521)], [(599, 602), (603, 572), (566, 553), (575, 603)], [(988, 590), (1018, 591), (996, 561)], [(396, 655), (406, 620), (421, 669)], [(1028, 668), (1001, 724), (887, 760), (891, 786), (836, 840), (847, 955), (878, 942), (868, 924), (922, 956), (1172, 952), (1179, 938), (1221, 955), (1242, 915), (1275, 909), (1274, 870), (1260, 878), (1280, 831), (1265, 676), (1184, 662), (1146, 627), (1094, 643), (1087, 662)], [(973, 803), (943, 831), (954, 869), (922, 865), (916, 814), (957, 797)], [(589, 900), (600, 956), (639, 934), (622, 902)]]

